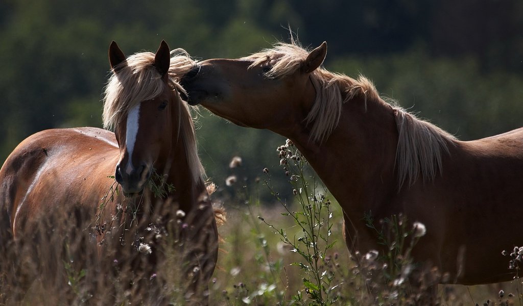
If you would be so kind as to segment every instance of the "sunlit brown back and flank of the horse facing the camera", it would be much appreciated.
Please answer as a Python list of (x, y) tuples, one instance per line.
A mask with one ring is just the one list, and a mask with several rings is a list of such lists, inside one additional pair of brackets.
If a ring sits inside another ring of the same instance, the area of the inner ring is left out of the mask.
[[(38, 207), (41, 204), (51, 205), (53, 197), (71, 196), (68, 189), (73, 185), (88, 187), (86, 173), (96, 175), (100, 168), (107, 168), (102, 170), (107, 178), (117, 156), (113, 134), (99, 128), (53, 129), (26, 138), (0, 170), (0, 243), (15, 234), (17, 220), (25, 222), (34, 211), (46, 210)], [(82, 174), (83, 180), (76, 177)], [(93, 197), (99, 199), (98, 194)], [(80, 198), (70, 200), (82, 202)]]

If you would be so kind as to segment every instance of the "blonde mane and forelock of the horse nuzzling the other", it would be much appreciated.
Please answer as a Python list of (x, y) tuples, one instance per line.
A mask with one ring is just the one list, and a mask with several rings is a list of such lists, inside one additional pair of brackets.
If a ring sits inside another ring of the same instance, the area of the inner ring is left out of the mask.
[[(291, 38), (291, 43), (277, 43), (271, 49), (244, 57), (253, 61), (251, 67), (269, 65), (265, 73), (268, 78), (280, 78), (297, 72), (309, 51)], [(360, 75), (358, 79), (343, 74), (332, 73), (319, 67), (311, 73), (311, 81), (316, 89), (316, 99), (305, 123), (311, 125), (310, 140), (321, 144), (327, 140), (339, 123), (343, 104), (356, 97), (367, 101), (386, 103), (372, 82)], [(433, 180), (442, 171), (442, 154), (449, 154), (448, 144), (456, 138), (426, 121), (417, 119), (395, 103), (394, 119), (398, 131), (395, 167), (398, 173), (398, 187), (405, 182), (412, 185), (422, 174), (423, 180)]]

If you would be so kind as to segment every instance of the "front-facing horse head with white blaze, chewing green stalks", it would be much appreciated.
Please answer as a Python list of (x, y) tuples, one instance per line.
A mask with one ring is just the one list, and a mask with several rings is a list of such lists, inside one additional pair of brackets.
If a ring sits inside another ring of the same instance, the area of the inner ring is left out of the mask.
[[(180, 98), (169, 80), (169, 47), (162, 41), (155, 54), (128, 58), (112, 42), (109, 61), (115, 86), (113, 126), (120, 148), (115, 179), (126, 194), (143, 191), (153, 169), (166, 171), (173, 141), (177, 140)], [(106, 90), (109, 93), (109, 90)], [(107, 95), (110, 100), (110, 94)], [(173, 140), (174, 139), (174, 140)]]

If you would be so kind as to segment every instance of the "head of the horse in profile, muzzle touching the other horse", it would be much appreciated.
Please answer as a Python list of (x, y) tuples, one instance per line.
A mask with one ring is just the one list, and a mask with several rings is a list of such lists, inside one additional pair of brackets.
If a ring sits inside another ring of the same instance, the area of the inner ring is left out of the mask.
[(240, 126), (270, 127), (286, 134), (283, 130), (289, 123), (301, 121), (311, 109), (315, 88), (309, 76), (323, 63), (327, 44), (311, 52), (283, 44), (280, 47), (278, 52), (260, 52), (237, 60), (199, 62), (181, 80), (188, 103), (202, 104)]

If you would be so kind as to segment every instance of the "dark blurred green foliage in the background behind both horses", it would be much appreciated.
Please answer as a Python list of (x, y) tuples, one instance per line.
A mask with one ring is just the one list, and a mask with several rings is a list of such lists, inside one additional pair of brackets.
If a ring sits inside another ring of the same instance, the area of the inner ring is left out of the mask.
[[(327, 68), (368, 76), (462, 139), (522, 125), (518, 0), (4, 0), (0, 160), (37, 131), (101, 125), (111, 40), (127, 54), (165, 39), (197, 58), (239, 57), (288, 41), (288, 26), (305, 46), (327, 41)], [(277, 164), (280, 136), (201, 112), (200, 154), (218, 185), (234, 155), (248, 180)]]

